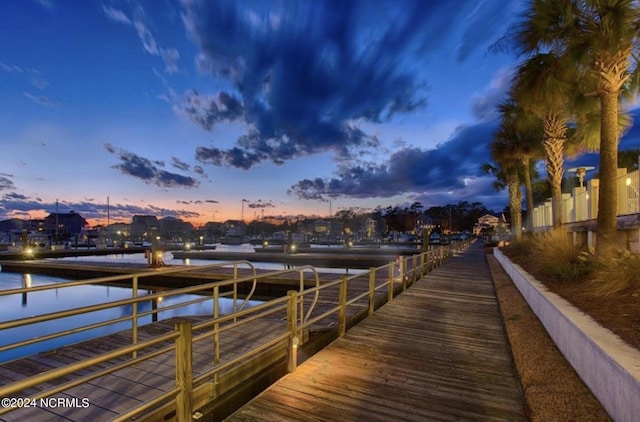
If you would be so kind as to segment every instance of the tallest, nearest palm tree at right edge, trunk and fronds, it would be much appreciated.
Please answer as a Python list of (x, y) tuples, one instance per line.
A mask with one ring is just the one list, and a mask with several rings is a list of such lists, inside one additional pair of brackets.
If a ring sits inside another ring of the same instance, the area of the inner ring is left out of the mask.
[(600, 102), (600, 191), (596, 253), (608, 256), (617, 232), (619, 102), (635, 93), (640, 41), (640, 6), (635, 0), (532, 0), (515, 34), (522, 52), (554, 52), (568, 68), (586, 70)]

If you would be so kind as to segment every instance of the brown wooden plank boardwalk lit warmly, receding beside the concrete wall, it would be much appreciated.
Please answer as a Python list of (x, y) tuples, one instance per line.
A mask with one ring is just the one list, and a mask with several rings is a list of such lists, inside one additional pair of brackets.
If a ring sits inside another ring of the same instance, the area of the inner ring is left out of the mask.
[(449, 259), (226, 420), (526, 420), (482, 246)]

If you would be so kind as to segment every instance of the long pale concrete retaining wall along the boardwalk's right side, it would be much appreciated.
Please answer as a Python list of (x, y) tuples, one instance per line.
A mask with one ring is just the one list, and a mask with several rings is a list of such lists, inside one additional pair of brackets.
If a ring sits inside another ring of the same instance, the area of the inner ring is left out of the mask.
[(499, 249), (494, 256), (609, 415), (620, 422), (640, 420), (640, 351), (550, 292)]

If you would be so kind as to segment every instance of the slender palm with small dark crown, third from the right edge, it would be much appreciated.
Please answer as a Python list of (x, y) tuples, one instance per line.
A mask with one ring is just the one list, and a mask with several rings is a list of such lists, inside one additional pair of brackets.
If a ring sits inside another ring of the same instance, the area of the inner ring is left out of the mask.
[(533, 187), (531, 163), (543, 157), (542, 131), (540, 120), (527, 113), (517, 101), (511, 97), (498, 105), (505, 132), (511, 136), (515, 146), (517, 160), (522, 167), (525, 198), (527, 202), (526, 229), (533, 229)]

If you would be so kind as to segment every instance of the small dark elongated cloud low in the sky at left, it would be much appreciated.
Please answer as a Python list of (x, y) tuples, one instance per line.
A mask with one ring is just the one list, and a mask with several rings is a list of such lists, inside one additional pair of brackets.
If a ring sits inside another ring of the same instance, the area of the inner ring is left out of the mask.
[(116, 151), (111, 144), (105, 144), (104, 148), (111, 154), (115, 154), (121, 163), (112, 166), (120, 173), (141, 179), (145, 183), (154, 184), (165, 188), (186, 187), (193, 188), (200, 184), (196, 179), (161, 170), (162, 161), (151, 161), (148, 158), (129, 151)]

